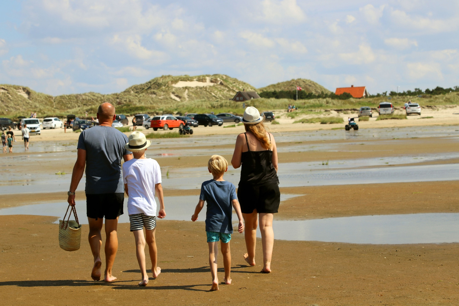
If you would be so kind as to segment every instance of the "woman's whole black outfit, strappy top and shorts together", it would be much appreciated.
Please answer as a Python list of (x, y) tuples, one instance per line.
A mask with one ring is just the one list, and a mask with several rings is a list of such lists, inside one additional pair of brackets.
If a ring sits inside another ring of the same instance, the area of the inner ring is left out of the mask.
[[(273, 151), (251, 151), (247, 141), (247, 152), (241, 155), (241, 180), (237, 189), (237, 198), (243, 213), (275, 213), (279, 209), (279, 178), (274, 169)], [(269, 135), (271, 141), (271, 135)]]

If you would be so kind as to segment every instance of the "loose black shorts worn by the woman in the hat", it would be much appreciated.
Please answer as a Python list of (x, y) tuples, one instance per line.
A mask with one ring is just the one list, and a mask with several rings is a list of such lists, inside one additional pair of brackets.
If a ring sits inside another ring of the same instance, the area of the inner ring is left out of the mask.
[(260, 186), (241, 184), (237, 189), (237, 198), (242, 213), (250, 214), (254, 209), (258, 213), (276, 213), (280, 203), (279, 185), (277, 183)]

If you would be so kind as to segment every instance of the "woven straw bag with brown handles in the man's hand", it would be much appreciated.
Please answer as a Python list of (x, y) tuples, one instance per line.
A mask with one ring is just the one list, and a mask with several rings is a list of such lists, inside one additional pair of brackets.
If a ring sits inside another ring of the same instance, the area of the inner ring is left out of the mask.
[[(68, 208), (72, 207), (70, 213), (68, 214), (67, 221), (65, 217), (67, 216)], [(69, 220), (70, 215), (75, 217), (75, 221)], [(75, 206), (68, 206), (67, 211), (64, 215), (64, 220), (59, 220), (59, 246), (62, 250), (66, 251), (76, 251), (80, 248), (81, 242), (81, 224), (78, 222), (77, 211)]]

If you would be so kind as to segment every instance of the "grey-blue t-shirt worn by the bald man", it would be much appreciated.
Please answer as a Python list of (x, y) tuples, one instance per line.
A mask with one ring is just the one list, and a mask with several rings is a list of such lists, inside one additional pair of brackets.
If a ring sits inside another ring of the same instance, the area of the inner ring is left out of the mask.
[(131, 154), (128, 137), (116, 128), (96, 125), (81, 132), (77, 149), (86, 150), (86, 188), (90, 195), (124, 192), (121, 160)]

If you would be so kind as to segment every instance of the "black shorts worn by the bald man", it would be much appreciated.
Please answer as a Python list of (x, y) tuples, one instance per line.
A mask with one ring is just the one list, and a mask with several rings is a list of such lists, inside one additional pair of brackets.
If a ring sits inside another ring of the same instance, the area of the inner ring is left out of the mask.
[(93, 219), (114, 220), (123, 214), (124, 192), (88, 195), (86, 194), (86, 216)]

